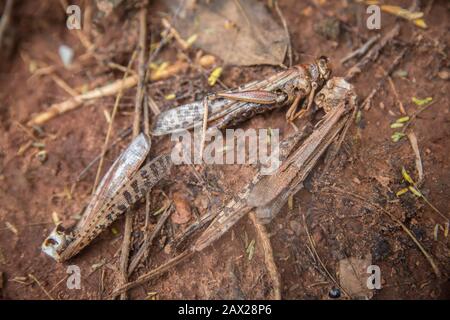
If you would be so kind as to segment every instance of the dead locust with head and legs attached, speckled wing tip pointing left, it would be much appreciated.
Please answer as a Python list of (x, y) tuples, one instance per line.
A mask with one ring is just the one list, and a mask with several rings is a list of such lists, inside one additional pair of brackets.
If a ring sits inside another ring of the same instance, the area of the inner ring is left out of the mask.
[[(289, 121), (301, 113), (296, 110), (302, 99), (308, 107), (317, 88), (330, 77), (328, 58), (320, 57), (314, 63), (294, 66), (274, 74), (268, 79), (247, 83), (239, 88), (218, 92), (205, 97), (208, 123), (222, 129), (245, 121), (255, 114), (290, 105)], [(176, 133), (201, 125), (205, 112), (204, 100), (188, 103), (162, 112), (156, 118), (153, 135)]]

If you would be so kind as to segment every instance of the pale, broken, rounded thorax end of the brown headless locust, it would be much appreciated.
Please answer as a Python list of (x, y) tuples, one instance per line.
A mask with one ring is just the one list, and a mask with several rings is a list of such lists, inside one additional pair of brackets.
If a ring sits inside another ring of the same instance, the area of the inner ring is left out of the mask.
[(328, 113), (347, 99), (356, 99), (353, 85), (344, 78), (333, 77), (317, 93), (314, 102), (318, 108)]

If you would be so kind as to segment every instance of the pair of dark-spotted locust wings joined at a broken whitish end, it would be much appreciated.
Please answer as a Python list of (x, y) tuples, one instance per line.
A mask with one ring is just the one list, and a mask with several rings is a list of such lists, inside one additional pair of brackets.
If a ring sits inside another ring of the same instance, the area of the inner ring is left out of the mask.
[(141, 167), (149, 151), (150, 140), (140, 134), (105, 174), (80, 222), (71, 232), (58, 225), (44, 240), (42, 251), (58, 262), (70, 259), (145, 196), (171, 167), (170, 155)]

